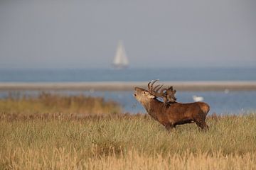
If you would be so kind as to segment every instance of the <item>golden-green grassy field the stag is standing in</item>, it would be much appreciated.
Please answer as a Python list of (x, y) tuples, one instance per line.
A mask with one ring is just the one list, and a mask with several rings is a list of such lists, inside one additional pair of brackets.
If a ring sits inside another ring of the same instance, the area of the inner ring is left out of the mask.
[(41, 99), (31, 100), (0, 101), (0, 169), (256, 169), (255, 113), (208, 116), (207, 132), (195, 124), (166, 132), (148, 115), (119, 114), (112, 101), (92, 115), (62, 104), (35, 111)]

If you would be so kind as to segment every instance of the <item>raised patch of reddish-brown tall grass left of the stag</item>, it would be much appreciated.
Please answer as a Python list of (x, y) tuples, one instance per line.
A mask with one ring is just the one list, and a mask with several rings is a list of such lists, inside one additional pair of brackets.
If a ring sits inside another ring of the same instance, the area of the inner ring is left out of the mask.
[(63, 96), (41, 93), (38, 96), (9, 95), (0, 99), (0, 116), (9, 118), (46, 115), (109, 115), (120, 113), (117, 102), (105, 101), (102, 97)]

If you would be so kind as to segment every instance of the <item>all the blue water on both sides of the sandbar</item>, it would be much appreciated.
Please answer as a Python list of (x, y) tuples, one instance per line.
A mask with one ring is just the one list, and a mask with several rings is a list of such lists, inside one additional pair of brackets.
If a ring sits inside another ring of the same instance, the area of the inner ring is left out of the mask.
[[(0, 82), (79, 82), (79, 81), (256, 81), (256, 68), (176, 68), (176, 69), (0, 69)], [(10, 91), (0, 91), (5, 98)], [(11, 91), (36, 95), (41, 91)], [(132, 96), (133, 91), (50, 91), (53, 93), (102, 96), (119, 102), (124, 112), (145, 113)], [(210, 113), (238, 114), (256, 111), (256, 91), (177, 91), (179, 102), (193, 102), (203, 96)]]

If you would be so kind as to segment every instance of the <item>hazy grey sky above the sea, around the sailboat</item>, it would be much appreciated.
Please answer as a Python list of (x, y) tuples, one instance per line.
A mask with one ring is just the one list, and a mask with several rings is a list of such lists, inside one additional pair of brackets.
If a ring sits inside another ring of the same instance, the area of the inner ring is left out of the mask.
[(0, 69), (256, 67), (256, 1), (0, 0)]

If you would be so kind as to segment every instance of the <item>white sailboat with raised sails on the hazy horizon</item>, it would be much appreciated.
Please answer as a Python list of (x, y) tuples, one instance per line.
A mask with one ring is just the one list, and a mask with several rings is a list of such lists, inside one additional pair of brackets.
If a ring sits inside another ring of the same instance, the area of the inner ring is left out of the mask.
[(113, 66), (117, 69), (123, 69), (128, 67), (129, 61), (124, 49), (124, 45), (122, 43), (122, 40), (119, 40), (117, 44), (117, 52), (114, 56)]

